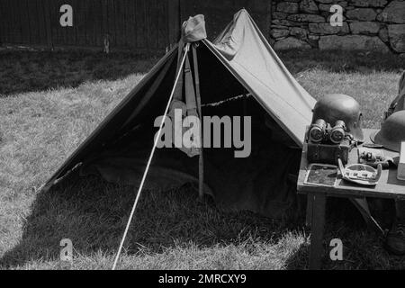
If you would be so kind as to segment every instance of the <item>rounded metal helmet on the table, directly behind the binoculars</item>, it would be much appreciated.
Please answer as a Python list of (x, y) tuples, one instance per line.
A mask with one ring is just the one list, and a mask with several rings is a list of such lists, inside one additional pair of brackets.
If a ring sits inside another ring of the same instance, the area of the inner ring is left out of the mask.
[(336, 121), (344, 121), (347, 132), (353, 135), (358, 142), (363, 142), (365, 137), (361, 127), (362, 112), (357, 101), (346, 94), (327, 94), (323, 96), (312, 110), (312, 123), (323, 119), (331, 125)]

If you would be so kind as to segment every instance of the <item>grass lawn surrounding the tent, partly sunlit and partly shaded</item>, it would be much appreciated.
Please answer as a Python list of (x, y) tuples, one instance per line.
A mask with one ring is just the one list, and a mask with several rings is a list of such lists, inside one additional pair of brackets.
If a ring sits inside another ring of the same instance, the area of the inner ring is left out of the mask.
[[(405, 58), (373, 53), (287, 51), (280, 57), (314, 97), (354, 96), (367, 128), (379, 127), (405, 68)], [(48, 193), (37, 193), (37, 188), (157, 59), (130, 53), (0, 51), (0, 269), (112, 267), (133, 188), (77, 175)], [(188, 186), (144, 191), (119, 267), (307, 267), (311, 235), (303, 217), (270, 220), (248, 211), (225, 213), (210, 198), (195, 198)], [(71, 264), (59, 261), (62, 238), (73, 241)], [(332, 238), (342, 239), (344, 261), (325, 257), (325, 268), (405, 268), (405, 258), (390, 256), (346, 200), (329, 201), (326, 248)]]

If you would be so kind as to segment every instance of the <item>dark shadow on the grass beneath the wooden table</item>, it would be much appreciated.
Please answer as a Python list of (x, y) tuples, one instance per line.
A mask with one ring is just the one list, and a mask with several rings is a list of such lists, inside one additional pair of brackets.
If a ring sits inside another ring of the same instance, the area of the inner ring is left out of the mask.
[[(392, 201), (369, 200), (369, 206), (383, 229), (392, 224)], [(379, 209), (379, 210), (378, 210)], [(404, 266), (403, 257), (391, 256), (383, 248), (382, 238), (367, 229), (359, 211), (347, 199), (328, 198), (325, 234), (321, 269), (358, 270), (358, 269), (400, 269)], [(311, 232), (311, 229), (309, 229)], [(343, 244), (343, 259), (331, 260), (329, 253), (333, 247), (330, 241), (338, 238)], [(286, 269), (308, 269), (310, 243), (302, 243), (292, 257), (286, 261)]]

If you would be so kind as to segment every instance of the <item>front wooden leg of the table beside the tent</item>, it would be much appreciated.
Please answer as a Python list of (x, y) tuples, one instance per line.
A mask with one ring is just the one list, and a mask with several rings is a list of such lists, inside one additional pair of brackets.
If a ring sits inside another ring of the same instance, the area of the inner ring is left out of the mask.
[(308, 193), (308, 201), (311, 202), (312, 211), (310, 213), (307, 211), (307, 220), (309, 214), (311, 214), (310, 269), (319, 270), (323, 255), (322, 240), (325, 225), (326, 195), (324, 193)]

